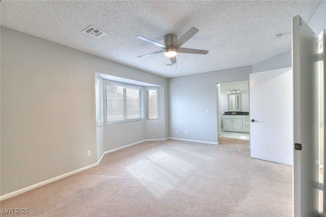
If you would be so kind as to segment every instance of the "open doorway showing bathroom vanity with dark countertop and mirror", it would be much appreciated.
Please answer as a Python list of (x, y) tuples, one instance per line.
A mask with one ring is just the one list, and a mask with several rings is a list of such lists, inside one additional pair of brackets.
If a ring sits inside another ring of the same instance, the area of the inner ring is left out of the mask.
[(219, 139), (250, 139), (249, 82), (220, 83), (218, 88)]

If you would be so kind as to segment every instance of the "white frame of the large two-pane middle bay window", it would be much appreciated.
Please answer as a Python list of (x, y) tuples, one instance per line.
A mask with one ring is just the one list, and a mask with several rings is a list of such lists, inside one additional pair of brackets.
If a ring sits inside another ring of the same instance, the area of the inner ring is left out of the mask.
[[(127, 117), (127, 97), (126, 97), (126, 88), (127, 89), (134, 89), (139, 90), (140, 96), (140, 118), (133, 118), (133, 119), (124, 119), (121, 121), (108, 121), (107, 120), (107, 85), (112, 86), (119, 86), (123, 88), (123, 96), (124, 96), (124, 117)], [(110, 80), (105, 80), (105, 103), (106, 103), (106, 123), (107, 124), (115, 124), (115, 123), (123, 123), (123, 122), (130, 122), (130, 121), (142, 121), (144, 120), (144, 110), (143, 110), (143, 87), (136, 86), (136, 85), (128, 85), (119, 82), (111, 82)]]

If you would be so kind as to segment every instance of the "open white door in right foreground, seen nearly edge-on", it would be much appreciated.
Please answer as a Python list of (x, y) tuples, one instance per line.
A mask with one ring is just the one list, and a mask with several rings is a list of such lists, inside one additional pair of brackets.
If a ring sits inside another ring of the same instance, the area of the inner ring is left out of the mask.
[(300, 16), (292, 20), (294, 93), (293, 216), (317, 216), (319, 203), (318, 36)]

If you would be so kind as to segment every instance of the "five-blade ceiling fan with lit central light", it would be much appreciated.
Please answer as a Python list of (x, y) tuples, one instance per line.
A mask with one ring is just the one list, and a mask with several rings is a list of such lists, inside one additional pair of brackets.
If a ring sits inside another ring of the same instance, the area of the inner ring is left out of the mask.
[[(208, 50), (198, 50), (198, 49), (190, 49), (190, 48), (183, 48), (181, 47), (186, 41), (188, 41), (191, 37), (193, 37), (199, 30), (196, 28), (190, 29), (186, 32), (183, 36), (177, 39), (177, 36), (174, 34), (168, 34), (164, 36), (164, 44), (158, 43), (156, 41), (150, 40), (143, 36), (136, 36), (139, 39), (142, 39), (148, 43), (156, 45), (164, 50), (159, 50), (156, 52), (148, 53), (146, 55), (140, 56), (138, 58), (148, 57), (151, 55), (156, 55), (157, 53), (164, 52), (164, 55), (167, 56), (173, 65), (177, 63), (177, 53), (195, 53), (195, 54), (203, 54), (206, 55)], [(172, 65), (169, 64), (169, 65)], [(168, 66), (168, 65), (167, 65)]]

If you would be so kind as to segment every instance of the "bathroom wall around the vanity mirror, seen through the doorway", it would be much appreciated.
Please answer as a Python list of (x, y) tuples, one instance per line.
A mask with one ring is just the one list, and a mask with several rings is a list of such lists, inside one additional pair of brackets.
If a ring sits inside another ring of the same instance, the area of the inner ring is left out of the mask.
[[(243, 80), (242, 82), (232, 82), (232, 83), (221, 84), (220, 85), (221, 128), (223, 128), (223, 114), (225, 112), (228, 112), (228, 90), (240, 90), (241, 112), (249, 112), (249, 82), (248, 82), (248, 80)], [(224, 108), (224, 111), (222, 111), (222, 108)]]

